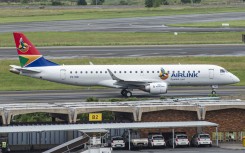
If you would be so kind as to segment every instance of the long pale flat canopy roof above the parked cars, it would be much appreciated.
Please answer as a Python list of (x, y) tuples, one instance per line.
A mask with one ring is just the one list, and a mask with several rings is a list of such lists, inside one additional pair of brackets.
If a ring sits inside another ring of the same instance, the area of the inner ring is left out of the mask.
[(133, 123), (2, 126), (0, 127), (0, 133), (95, 130), (95, 129), (179, 128), (179, 127), (206, 127), (206, 126), (217, 127), (218, 124), (207, 122), (207, 121), (185, 121), (185, 122), (133, 122)]

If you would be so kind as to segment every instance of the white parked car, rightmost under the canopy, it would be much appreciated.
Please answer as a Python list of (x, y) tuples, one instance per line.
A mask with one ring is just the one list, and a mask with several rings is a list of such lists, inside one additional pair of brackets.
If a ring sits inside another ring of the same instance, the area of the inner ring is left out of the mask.
[(192, 146), (208, 145), (212, 146), (209, 134), (195, 134), (191, 139)]

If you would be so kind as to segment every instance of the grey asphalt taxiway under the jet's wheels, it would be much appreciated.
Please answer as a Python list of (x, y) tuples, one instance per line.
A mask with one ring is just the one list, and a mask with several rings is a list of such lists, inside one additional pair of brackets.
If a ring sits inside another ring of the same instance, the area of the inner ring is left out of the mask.
[[(245, 93), (245, 87), (222, 86), (216, 90), (219, 96), (240, 96)], [(133, 97), (157, 98), (161, 95), (133, 90)], [(171, 97), (207, 97), (211, 93), (210, 87), (169, 87), (168, 93), (162, 96)], [(54, 91), (2, 91), (0, 92), (0, 103), (67, 103), (81, 102), (88, 97), (122, 98), (119, 89), (84, 89), (84, 90), (54, 90)]]

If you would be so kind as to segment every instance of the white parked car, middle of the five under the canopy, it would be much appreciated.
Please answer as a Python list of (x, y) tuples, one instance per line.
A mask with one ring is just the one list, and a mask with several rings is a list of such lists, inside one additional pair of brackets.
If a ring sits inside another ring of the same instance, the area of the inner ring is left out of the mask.
[(164, 137), (162, 135), (149, 135), (148, 144), (150, 147), (166, 147)]

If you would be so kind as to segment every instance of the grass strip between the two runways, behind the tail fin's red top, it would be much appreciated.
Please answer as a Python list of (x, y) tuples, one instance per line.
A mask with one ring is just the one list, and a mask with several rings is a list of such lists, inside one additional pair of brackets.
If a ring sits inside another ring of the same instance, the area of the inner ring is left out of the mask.
[[(243, 32), (26, 32), (36, 46), (115, 46), (239, 44)], [(0, 35), (0, 47), (13, 47), (12, 33)]]

